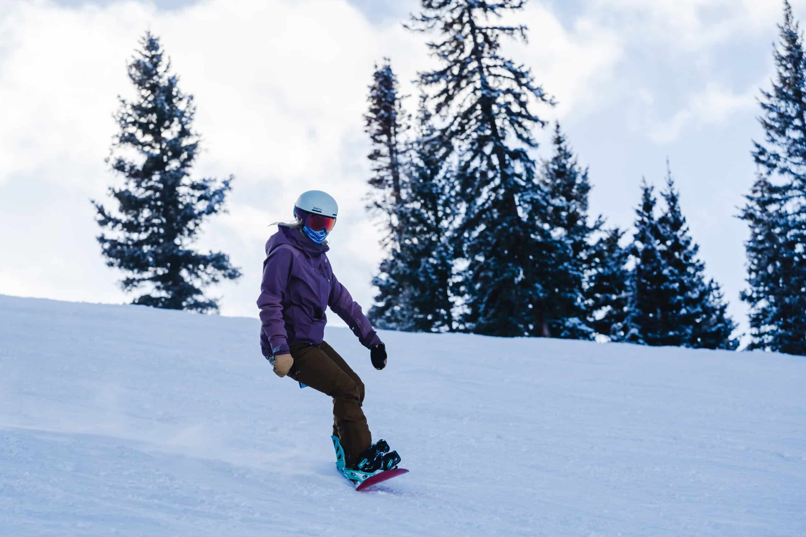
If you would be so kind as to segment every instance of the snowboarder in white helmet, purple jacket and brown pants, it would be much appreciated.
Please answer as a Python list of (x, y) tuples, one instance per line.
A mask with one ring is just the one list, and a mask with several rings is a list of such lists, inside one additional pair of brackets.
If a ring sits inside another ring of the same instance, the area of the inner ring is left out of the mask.
[[(372, 444), (361, 409), (364, 383), (339, 353), (323, 341), (330, 306), (370, 349), (372, 366), (386, 366), (386, 349), (361, 307), (339, 283), (327, 260), (326, 238), (339, 207), (326, 192), (304, 192), (294, 204), (294, 221), (280, 224), (266, 242), (260, 285), (260, 348), (274, 372), (333, 398), (333, 436), (347, 469), (373, 473), (401, 461), (384, 440)], [(339, 461), (337, 461), (339, 464)]]

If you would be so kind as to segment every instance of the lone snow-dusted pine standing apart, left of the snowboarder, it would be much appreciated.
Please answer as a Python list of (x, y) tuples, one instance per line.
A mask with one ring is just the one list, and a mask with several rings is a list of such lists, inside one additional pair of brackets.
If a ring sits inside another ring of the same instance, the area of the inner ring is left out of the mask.
[(199, 149), (193, 96), (169, 74), (170, 61), (155, 35), (147, 32), (140, 44), (128, 64), (137, 97), (120, 99), (120, 132), (107, 159), (124, 179), (123, 188), (109, 189), (119, 216), (93, 200), (98, 225), (114, 232), (102, 233), (98, 242), (108, 266), (131, 274), (121, 282), (124, 291), (149, 288), (134, 304), (216, 311), (218, 301), (203, 289), (241, 273), (226, 254), (201, 254), (191, 246), (202, 221), (224, 211), (232, 177), (221, 184), (190, 179)]

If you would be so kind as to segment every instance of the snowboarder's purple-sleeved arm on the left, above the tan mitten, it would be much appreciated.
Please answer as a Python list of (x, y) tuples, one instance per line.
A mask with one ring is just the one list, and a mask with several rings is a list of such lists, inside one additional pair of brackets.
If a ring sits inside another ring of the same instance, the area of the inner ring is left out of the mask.
[(263, 332), (275, 356), (291, 352), (283, 320), (283, 299), (291, 275), (292, 258), (291, 250), (280, 246), (272, 250), (263, 263), (263, 281), (260, 283), (257, 307), (260, 308)]

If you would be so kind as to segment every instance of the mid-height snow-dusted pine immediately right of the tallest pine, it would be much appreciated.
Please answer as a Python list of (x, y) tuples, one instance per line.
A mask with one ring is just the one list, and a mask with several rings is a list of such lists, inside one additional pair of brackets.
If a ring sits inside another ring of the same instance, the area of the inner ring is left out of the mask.
[(584, 284), (592, 256), (592, 235), (601, 224), (588, 222), (588, 170), (580, 168), (559, 122), (553, 143), (554, 155), (543, 163), (540, 179), (549, 200), (546, 223), (558, 249), (553, 258), (536, 261), (547, 265), (543, 282), (546, 323), (554, 337), (591, 339), (594, 330), (587, 322)]

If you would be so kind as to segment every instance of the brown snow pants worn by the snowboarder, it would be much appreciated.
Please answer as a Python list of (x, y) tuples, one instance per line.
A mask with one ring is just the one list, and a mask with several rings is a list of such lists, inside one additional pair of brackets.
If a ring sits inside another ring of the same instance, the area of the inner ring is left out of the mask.
[(367, 418), (361, 410), (364, 382), (333, 347), (291, 345), (294, 365), (289, 377), (333, 398), (333, 436), (339, 437), (345, 463), (355, 468), (356, 460), (372, 444)]

